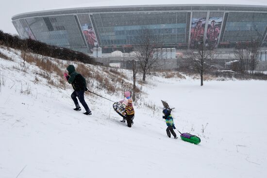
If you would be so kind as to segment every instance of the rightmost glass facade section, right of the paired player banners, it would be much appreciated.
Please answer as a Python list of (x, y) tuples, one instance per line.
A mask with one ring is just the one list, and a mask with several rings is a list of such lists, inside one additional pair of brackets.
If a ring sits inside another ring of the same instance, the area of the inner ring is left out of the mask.
[(267, 13), (230, 12), (224, 42), (260, 40), (267, 26)]

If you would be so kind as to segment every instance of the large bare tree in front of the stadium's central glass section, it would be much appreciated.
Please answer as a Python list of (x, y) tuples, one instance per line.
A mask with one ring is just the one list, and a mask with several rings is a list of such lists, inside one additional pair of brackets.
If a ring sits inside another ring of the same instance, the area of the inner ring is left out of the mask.
[(140, 30), (139, 35), (136, 36), (134, 60), (139, 62), (143, 72), (142, 81), (146, 81), (147, 72), (156, 64), (157, 59), (160, 58), (158, 55), (153, 55), (153, 49), (160, 44), (160, 41), (160, 38), (149, 29)]

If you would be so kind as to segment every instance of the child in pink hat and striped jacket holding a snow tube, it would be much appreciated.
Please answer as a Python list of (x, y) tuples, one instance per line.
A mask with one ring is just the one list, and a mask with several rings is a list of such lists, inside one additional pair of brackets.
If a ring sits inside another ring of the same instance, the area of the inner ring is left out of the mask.
[(132, 127), (132, 124), (134, 123), (134, 106), (133, 106), (133, 100), (130, 97), (131, 93), (129, 91), (124, 92), (124, 99), (119, 101), (122, 106), (125, 108), (124, 112), (122, 113), (124, 115), (123, 119), (120, 122), (127, 121), (127, 126), (130, 128)]

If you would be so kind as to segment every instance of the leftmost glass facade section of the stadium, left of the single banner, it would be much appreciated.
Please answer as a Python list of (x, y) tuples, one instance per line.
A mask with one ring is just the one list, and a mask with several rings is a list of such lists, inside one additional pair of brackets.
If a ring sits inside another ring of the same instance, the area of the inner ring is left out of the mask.
[(38, 41), (59, 47), (85, 47), (72, 15), (33, 17), (26, 21)]

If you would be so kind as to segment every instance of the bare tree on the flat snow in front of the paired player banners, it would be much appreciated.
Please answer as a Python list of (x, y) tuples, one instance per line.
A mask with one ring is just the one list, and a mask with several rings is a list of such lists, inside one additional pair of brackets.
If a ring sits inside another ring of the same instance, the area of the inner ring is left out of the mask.
[(200, 86), (203, 85), (203, 74), (211, 66), (211, 60), (215, 55), (213, 47), (207, 47), (204, 42), (199, 42), (194, 49), (188, 49), (186, 57), (194, 64), (200, 74)]

